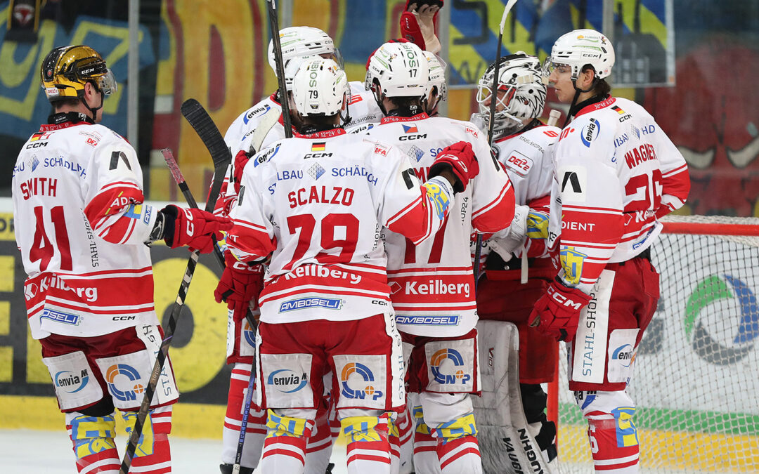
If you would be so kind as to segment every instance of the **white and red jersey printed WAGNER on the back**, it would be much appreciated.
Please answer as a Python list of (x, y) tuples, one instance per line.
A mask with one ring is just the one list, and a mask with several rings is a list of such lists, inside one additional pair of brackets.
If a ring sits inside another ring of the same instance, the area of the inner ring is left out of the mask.
[(578, 111), (562, 130), (555, 161), (550, 240), (560, 234), (562, 277), (586, 292), (607, 262), (646, 250), (661, 231), (657, 218), (681, 207), (690, 190), (682, 154), (628, 99)]

